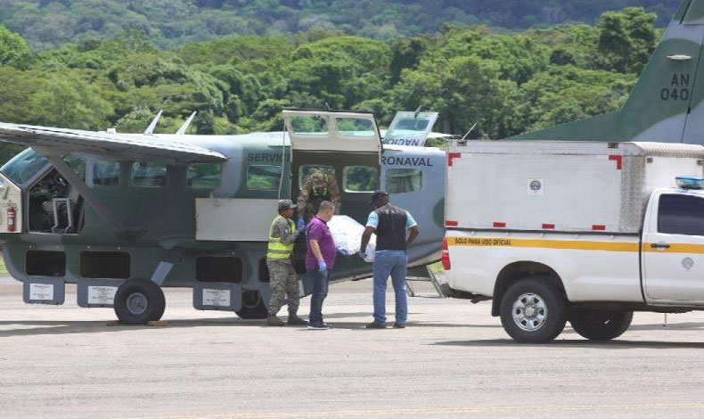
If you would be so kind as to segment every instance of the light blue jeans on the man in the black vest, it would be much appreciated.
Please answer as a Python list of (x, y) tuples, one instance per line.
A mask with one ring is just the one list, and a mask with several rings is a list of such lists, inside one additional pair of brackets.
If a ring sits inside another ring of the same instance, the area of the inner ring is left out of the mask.
[(405, 324), (408, 300), (405, 295), (405, 271), (408, 256), (405, 251), (377, 251), (374, 254), (374, 322), (386, 324), (386, 283), (391, 283), (396, 294), (396, 323)]

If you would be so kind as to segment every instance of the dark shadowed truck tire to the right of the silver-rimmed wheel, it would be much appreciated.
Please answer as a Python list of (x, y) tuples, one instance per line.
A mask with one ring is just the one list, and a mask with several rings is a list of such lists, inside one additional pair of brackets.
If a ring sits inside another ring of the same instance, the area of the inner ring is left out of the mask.
[(633, 311), (573, 310), (569, 313), (572, 329), (590, 341), (618, 338), (631, 325)]

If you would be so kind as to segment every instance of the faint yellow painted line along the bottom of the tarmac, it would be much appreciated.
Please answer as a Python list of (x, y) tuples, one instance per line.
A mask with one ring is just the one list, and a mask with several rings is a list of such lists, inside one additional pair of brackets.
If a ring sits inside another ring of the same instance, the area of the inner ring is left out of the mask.
[(340, 416), (380, 416), (380, 415), (457, 415), (475, 413), (512, 413), (512, 412), (582, 412), (602, 410), (667, 410), (667, 409), (704, 409), (704, 403), (663, 403), (643, 405), (574, 405), (574, 406), (495, 406), (495, 407), (456, 407), (456, 408), (419, 408), (419, 409), (379, 409), (379, 410), (331, 410), (308, 412), (270, 412), (241, 413), (218, 415), (158, 415), (158, 416), (123, 416), (121, 418), (103, 419), (277, 419), (291, 417), (340, 417)]

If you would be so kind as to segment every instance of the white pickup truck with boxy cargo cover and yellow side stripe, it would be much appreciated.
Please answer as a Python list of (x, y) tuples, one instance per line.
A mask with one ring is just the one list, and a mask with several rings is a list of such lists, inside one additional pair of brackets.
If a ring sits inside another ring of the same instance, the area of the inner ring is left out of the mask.
[(527, 343), (552, 341), (567, 321), (610, 340), (634, 311), (704, 309), (702, 159), (687, 144), (451, 145), (451, 296), (493, 300), (492, 315)]

